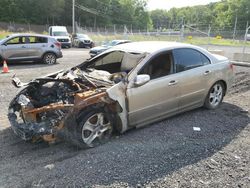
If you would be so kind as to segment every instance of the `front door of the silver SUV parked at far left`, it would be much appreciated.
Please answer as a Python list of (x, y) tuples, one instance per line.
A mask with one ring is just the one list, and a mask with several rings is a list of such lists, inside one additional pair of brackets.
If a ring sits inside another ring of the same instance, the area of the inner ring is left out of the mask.
[(20, 60), (27, 56), (25, 38), (13, 37), (2, 45), (3, 57), (8, 60)]

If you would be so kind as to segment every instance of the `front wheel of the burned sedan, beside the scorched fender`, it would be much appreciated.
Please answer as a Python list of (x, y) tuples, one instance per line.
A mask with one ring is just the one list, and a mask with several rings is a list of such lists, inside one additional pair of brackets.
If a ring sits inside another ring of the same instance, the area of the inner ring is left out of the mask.
[(80, 114), (75, 133), (80, 148), (96, 147), (110, 140), (113, 133), (113, 118), (110, 114), (97, 106)]

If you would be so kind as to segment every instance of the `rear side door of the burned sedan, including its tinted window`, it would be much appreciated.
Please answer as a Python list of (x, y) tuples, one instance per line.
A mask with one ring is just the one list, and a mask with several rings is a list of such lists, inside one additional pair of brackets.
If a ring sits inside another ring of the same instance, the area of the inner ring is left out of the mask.
[(209, 59), (195, 49), (173, 50), (176, 74), (179, 75), (180, 103), (182, 111), (201, 106), (206, 96), (211, 71)]

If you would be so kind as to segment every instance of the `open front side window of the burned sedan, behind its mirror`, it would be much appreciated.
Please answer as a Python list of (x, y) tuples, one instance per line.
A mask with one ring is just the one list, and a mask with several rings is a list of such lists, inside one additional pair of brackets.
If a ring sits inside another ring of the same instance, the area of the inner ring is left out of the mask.
[(138, 74), (148, 74), (150, 79), (167, 76), (173, 72), (173, 60), (171, 52), (164, 52), (153, 57)]

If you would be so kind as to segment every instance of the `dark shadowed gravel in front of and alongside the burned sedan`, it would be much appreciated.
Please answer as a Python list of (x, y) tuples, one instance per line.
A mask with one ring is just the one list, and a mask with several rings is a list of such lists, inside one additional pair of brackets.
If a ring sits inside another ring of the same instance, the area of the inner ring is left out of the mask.
[[(116, 182), (143, 185), (206, 159), (229, 144), (250, 123), (241, 110), (229, 103), (214, 111), (200, 108), (87, 150), (64, 142), (52, 146), (25, 143), (5, 129), (0, 132), (0, 182), (20, 187), (36, 183), (56, 187)], [(194, 131), (194, 126), (201, 131)], [(45, 169), (48, 164), (54, 168)]]

